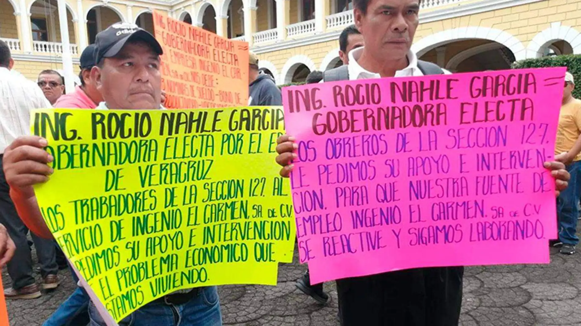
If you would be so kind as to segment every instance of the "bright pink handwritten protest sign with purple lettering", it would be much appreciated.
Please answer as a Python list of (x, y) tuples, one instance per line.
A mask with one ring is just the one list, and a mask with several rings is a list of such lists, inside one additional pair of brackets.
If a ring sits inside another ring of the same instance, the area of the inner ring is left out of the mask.
[(313, 284), (431, 266), (548, 263), (565, 68), (283, 89)]

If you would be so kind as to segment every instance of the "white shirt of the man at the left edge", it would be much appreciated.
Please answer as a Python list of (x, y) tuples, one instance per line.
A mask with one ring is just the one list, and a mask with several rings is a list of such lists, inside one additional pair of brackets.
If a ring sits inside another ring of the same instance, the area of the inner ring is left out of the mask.
[(0, 67), (0, 154), (17, 137), (30, 135), (30, 111), (52, 108), (38, 85)]

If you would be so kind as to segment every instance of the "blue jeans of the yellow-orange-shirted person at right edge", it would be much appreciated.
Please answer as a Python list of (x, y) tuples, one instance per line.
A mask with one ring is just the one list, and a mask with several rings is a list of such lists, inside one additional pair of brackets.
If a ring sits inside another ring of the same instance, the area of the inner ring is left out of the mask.
[(557, 198), (557, 217), (559, 220), (559, 241), (564, 244), (576, 245), (579, 238), (577, 231), (577, 218), (579, 217), (579, 187), (581, 186), (581, 161), (567, 165), (567, 171), (571, 174), (569, 186), (561, 191)]

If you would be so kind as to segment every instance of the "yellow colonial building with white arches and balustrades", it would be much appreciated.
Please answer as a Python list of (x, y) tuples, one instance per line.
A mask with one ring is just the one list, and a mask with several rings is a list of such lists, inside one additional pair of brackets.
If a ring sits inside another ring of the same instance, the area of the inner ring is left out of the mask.
[[(337, 66), (339, 33), (353, 23), (352, 0), (0, 0), (0, 38), (16, 70), (35, 79), (62, 69), (63, 39), (77, 71), (96, 33), (116, 21), (153, 31), (154, 9), (249, 42), (278, 84)], [(581, 54), (580, 32), (581, 0), (422, 0), (413, 50), (453, 72), (497, 70)]]

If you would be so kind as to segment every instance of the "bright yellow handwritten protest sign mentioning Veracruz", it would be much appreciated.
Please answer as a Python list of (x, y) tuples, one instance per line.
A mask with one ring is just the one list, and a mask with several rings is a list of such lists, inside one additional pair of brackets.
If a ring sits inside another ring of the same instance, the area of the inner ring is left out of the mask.
[(31, 129), (54, 157), (42, 215), (114, 320), (177, 289), (274, 285), (292, 261), (282, 107), (37, 110)]

